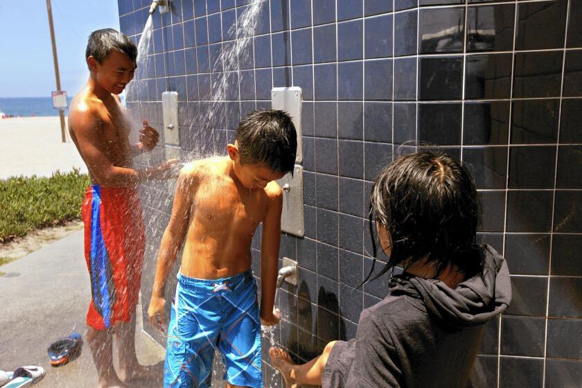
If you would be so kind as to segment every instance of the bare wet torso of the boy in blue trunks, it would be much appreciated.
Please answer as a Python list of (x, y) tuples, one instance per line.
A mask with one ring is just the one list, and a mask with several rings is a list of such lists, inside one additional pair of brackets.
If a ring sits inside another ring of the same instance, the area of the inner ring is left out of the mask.
[[(229, 157), (185, 166), (177, 185), (172, 217), (186, 229), (180, 272), (197, 279), (219, 279), (249, 270), (251, 243), (270, 204), (281, 202), (276, 182), (246, 188)], [(274, 206), (271, 206), (274, 207)]]

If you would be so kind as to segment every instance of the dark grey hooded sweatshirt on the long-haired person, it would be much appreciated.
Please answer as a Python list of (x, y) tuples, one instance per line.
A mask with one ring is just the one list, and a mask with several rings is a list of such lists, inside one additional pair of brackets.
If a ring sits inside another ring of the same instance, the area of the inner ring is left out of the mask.
[(362, 311), (355, 339), (329, 355), (324, 387), (466, 387), (486, 322), (511, 301), (509, 271), (489, 246), (482, 274), (451, 289), (393, 276), (386, 299)]

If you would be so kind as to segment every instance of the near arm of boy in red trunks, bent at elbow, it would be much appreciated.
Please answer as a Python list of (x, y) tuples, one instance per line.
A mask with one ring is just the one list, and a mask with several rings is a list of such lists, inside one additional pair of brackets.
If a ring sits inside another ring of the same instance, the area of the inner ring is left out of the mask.
[(135, 187), (150, 178), (162, 177), (173, 164), (159, 165), (145, 170), (114, 166), (105, 155), (103, 132), (114, 130), (100, 118), (96, 109), (74, 112), (69, 117), (82, 159), (91, 176), (103, 187)]

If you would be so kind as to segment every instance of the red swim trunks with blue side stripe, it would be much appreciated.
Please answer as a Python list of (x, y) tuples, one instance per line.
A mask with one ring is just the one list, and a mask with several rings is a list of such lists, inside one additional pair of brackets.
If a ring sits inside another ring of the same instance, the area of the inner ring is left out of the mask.
[(91, 185), (81, 206), (85, 260), (91, 278), (87, 325), (96, 330), (129, 322), (141, 283), (143, 214), (134, 188)]

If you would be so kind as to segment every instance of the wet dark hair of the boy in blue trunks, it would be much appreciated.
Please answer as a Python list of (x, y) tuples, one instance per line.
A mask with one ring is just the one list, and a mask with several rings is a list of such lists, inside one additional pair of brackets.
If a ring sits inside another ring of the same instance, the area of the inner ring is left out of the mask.
[(236, 127), (240, 164), (258, 164), (279, 173), (293, 170), (297, 132), (282, 110), (255, 110)]

